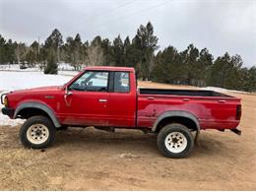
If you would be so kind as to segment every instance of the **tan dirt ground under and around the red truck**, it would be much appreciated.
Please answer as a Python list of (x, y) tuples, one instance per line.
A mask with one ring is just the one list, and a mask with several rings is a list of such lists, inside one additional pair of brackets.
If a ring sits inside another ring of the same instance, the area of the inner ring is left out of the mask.
[(0, 190), (256, 190), (256, 96), (231, 95), (243, 99), (242, 136), (202, 131), (182, 160), (140, 131), (68, 129), (38, 151), (21, 146), (19, 126), (0, 127)]

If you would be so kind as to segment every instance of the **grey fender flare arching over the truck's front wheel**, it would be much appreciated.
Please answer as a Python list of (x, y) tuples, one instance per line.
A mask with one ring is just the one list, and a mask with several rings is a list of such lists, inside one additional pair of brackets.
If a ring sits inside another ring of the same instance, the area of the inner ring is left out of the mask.
[(52, 120), (53, 124), (55, 127), (61, 127), (58, 119), (55, 117), (54, 112), (52, 111), (51, 108), (49, 108), (47, 105), (43, 104), (43, 103), (39, 103), (39, 102), (25, 102), (20, 104), (14, 113), (14, 118), (17, 118), (17, 115), (19, 114), (19, 112), (21, 112), (23, 109), (25, 108), (37, 108), (40, 109), (42, 111), (44, 111)]

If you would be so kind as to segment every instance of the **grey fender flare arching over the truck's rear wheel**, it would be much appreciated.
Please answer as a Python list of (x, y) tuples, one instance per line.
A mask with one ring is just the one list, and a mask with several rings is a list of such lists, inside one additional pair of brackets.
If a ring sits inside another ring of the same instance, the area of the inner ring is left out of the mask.
[(200, 124), (199, 124), (198, 118), (195, 115), (193, 115), (192, 113), (190, 113), (188, 111), (182, 111), (182, 110), (170, 110), (170, 111), (165, 111), (165, 112), (161, 113), (160, 116), (158, 117), (158, 119), (155, 121), (155, 123), (152, 127), (152, 131), (155, 132), (157, 130), (157, 127), (162, 119), (167, 118), (167, 117), (174, 117), (174, 116), (175, 117), (185, 117), (185, 118), (192, 120), (196, 124), (197, 131), (200, 131)]

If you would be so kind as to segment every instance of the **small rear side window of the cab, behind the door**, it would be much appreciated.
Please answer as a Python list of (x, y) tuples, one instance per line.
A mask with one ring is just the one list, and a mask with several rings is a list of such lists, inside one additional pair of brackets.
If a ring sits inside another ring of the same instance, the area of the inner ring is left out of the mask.
[(130, 80), (129, 80), (128, 72), (114, 73), (114, 92), (116, 93), (130, 92)]

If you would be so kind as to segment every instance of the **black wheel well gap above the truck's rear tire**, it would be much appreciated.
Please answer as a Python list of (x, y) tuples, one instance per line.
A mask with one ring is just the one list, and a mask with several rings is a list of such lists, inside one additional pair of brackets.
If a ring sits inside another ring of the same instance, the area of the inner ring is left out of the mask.
[(161, 119), (157, 126), (156, 132), (159, 133), (160, 129), (162, 127), (164, 127), (165, 125), (170, 124), (170, 123), (182, 124), (182, 125), (186, 126), (188, 129), (193, 130), (193, 131), (196, 131), (198, 129), (196, 122), (193, 121), (192, 119), (187, 118), (187, 117), (172, 116), (172, 117), (165, 117), (165, 118)]

